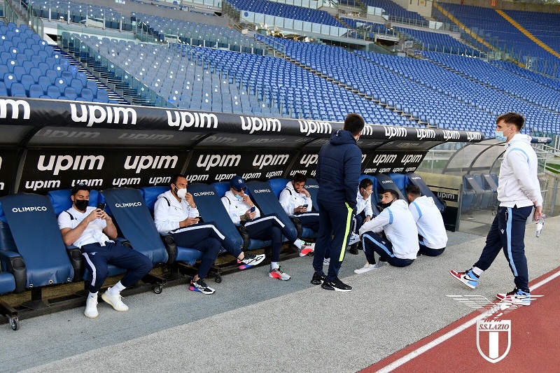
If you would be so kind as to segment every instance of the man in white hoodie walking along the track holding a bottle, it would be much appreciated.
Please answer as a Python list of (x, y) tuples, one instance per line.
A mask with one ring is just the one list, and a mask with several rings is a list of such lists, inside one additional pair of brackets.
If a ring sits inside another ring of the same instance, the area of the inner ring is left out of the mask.
[(465, 272), (450, 273), (474, 289), (479, 276), (489, 269), (503, 249), (514, 276), (515, 288), (510, 293), (498, 293), (496, 297), (528, 306), (531, 304), (531, 293), (525, 256), (525, 224), (533, 207), (535, 220), (542, 215), (542, 195), (537, 177), (537, 155), (531, 147), (531, 137), (519, 133), (524, 122), (525, 118), (518, 113), (506, 113), (496, 119), (496, 139), (507, 142), (498, 178), (498, 213), (475, 265)]

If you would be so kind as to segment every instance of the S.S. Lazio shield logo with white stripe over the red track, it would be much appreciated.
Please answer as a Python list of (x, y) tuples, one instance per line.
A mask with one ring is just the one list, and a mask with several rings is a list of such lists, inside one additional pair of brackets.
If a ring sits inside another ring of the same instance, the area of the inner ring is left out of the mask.
[(510, 352), (511, 320), (477, 321), (477, 349), (490, 363), (498, 363)]

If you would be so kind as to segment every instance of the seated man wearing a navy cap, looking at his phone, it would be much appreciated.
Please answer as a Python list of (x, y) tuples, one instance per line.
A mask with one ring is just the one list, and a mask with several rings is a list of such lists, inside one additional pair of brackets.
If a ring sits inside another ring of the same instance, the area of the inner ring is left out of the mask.
[(230, 190), (225, 192), (222, 203), (230, 215), (233, 223), (244, 225), (249, 237), (271, 240), (272, 262), (270, 263), (269, 276), (272, 279), (289, 280), (290, 276), (280, 269), (280, 251), (282, 248), (282, 235), (292, 242), (300, 253), (312, 251), (311, 247), (304, 241), (297, 239), (284, 225), (276, 214), (271, 213), (260, 216), (258, 209), (251, 198), (245, 194), (247, 186), (241, 176), (234, 176), (230, 180)]

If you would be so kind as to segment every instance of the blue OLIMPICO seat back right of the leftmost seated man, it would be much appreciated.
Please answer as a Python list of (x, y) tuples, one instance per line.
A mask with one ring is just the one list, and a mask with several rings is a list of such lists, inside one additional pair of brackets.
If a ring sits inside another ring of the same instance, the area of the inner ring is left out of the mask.
[(167, 262), (167, 250), (140, 191), (110, 188), (103, 191), (113, 216), (132, 248), (148, 256), (154, 265)]

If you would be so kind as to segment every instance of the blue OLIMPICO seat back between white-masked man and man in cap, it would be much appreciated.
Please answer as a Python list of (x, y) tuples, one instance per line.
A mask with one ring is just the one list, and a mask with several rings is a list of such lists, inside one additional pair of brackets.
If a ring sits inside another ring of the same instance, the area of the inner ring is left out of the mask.
[[(227, 184), (229, 189), (230, 183)], [(222, 234), (229, 237), (235, 246), (242, 248), (243, 239), (241, 239), (241, 235), (237, 232), (237, 228), (232, 222), (228, 211), (225, 210), (214, 185), (193, 183), (188, 185), (188, 191), (195, 198), (202, 220), (205, 222), (214, 221), (216, 228)]]

